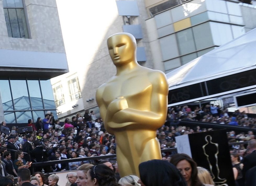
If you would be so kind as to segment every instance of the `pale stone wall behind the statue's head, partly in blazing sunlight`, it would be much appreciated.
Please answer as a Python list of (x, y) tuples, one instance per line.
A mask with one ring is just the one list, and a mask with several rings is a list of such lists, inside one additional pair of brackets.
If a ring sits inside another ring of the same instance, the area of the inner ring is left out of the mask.
[[(76, 3), (79, 3), (79, 6)], [(132, 17), (131, 23), (141, 24), (143, 31), (143, 39), (137, 40), (137, 46), (145, 47), (147, 61), (141, 64), (153, 68), (152, 52), (149, 50), (148, 34), (144, 22), (148, 18), (145, 2), (138, 0), (137, 4), (140, 16)], [(68, 96), (64, 96), (65, 104), (57, 107), (61, 112), (58, 117), (62, 118), (97, 106), (95, 100), (97, 88), (116, 73), (116, 68), (109, 56), (107, 39), (112, 34), (123, 32), (124, 21), (123, 17), (118, 14), (115, 0), (74, 1), (74, 6), (70, 5), (69, 1), (57, 0), (57, 7), (70, 72), (51, 79), (51, 82), (54, 85), (61, 81), (66, 93), (68, 92), (68, 76), (77, 74), (82, 95), (76, 101), (71, 101)], [(70, 11), (69, 15), (66, 15), (67, 7), (75, 8), (76, 11)], [(83, 7), (92, 8), (84, 11)], [(81, 23), (83, 20), (81, 17), (93, 17), (93, 19), (86, 19)], [(87, 102), (86, 100), (90, 98), (94, 100)], [(75, 104), (78, 106), (72, 108)]]

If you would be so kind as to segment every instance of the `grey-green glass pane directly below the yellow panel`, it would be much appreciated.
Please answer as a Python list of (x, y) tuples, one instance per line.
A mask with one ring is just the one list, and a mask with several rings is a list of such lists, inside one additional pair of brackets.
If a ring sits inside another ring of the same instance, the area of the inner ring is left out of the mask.
[(177, 41), (180, 55), (185, 55), (187, 53), (196, 51), (191, 28), (177, 32)]

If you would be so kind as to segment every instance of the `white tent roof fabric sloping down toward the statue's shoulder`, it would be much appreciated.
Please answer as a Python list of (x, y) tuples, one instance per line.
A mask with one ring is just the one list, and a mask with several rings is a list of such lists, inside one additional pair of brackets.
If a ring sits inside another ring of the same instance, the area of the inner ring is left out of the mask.
[(256, 28), (166, 74), (169, 87), (256, 68)]

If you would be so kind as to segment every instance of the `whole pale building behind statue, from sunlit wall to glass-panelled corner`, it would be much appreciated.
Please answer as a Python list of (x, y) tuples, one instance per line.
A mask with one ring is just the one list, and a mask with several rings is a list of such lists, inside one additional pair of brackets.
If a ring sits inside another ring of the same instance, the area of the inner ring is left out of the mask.
[(106, 43), (114, 33), (135, 35), (139, 63), (168, 73), (256, 27), (256, 7), (236, 0), (57, 0), (57, 7), (70, 70), (51, 79), (61, 119), (98, 111), (96, 89), (116, 73)]

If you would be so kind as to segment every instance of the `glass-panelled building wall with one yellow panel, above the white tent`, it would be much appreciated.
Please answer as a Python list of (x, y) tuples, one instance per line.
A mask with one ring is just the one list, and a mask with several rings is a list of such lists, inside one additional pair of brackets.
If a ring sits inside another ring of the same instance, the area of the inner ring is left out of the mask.
[(161, 55), (166, 73), (245, 33), (241, 6), (223, 0), (189, 1), (146, 23), (151, 50), (160, 45), (154, 56)]

